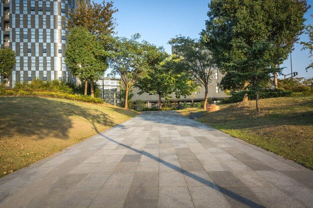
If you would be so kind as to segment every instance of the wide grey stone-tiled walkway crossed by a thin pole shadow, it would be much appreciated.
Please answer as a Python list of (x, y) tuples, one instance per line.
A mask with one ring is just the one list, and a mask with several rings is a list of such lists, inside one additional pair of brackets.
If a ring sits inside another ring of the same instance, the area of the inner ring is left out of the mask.
[(149, 112), (0, 179), (0, 208), (313, 208), (313, 172)]

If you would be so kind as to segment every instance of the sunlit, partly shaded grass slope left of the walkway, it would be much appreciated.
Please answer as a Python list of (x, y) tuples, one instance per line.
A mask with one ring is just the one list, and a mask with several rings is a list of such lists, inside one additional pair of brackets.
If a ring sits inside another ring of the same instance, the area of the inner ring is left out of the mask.
[(0, 177), (135, 115), (109, 104), (0, 97)]

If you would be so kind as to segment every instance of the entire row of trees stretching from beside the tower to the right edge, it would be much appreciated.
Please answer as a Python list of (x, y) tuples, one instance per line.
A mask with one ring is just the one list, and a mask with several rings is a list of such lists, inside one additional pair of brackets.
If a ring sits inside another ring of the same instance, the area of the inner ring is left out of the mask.
[[(174, 54), (146, 41), (140, 35), (113, 37), (116, 25), (113, 3), (81, 3), (70, 13), (71, 34), (65, 51), (73, 75), (90, 85), (111, 67), (125, 88), (125, 108), (129, 90), (162, 97), (175, 93), (190, 95), (201, 85), (205, 89), (214, 70), (224, 74), (222, 90), (258, 93), (273, 78), (277, 87), (278, 66), (303, 32), (306, 0), (211, 0), (206, 27), (199, 39), (177, 36), (169, 41)], [(275, 11), (275, 12), (272, 12)], [(309, 29), (310, 27), (307, 27)], [(311, 49), (311, 43), (307, 43)], [(91, 86), (92, 91), (92, 86)], [(92, 96), (92, 93), (91, 93)]]

